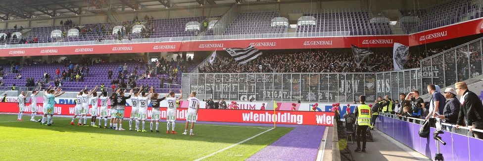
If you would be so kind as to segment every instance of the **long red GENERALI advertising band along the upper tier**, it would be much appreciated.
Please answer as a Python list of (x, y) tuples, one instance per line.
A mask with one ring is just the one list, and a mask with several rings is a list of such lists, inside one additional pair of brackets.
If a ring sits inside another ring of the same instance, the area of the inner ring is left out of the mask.
[(0, 48), (0, 56), (222, 51), (224, 48), (246, 48), (250, 45), (255, 46), (260, 50), (350, 48), (350, 45), (355, 45), (360, 48), (383, 48), (393, 47), (394, 43), (417, 46), (480, 33), (483, 33), (482, 18), (435, 28), (411, 35), (205, 40), (133, 44), (98, 44), (85, 46)]

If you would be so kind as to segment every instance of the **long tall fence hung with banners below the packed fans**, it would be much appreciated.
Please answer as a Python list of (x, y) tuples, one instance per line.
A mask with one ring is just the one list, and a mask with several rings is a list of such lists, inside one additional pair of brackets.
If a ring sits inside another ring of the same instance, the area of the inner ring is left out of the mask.
[(379, 73), (183, 73), (182, 89), (199, 99), (296, 102), (367, 101), (422, 91), (419, 69)]

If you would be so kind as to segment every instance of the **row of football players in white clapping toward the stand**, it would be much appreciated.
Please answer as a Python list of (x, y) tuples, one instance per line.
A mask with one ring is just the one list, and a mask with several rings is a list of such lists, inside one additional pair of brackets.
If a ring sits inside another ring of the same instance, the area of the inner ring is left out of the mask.
[[(65, 92), (61, 92), (62, 89), (60, 88), (57, 88), (57, 89), (56, 88), (50, 89), (50, 88), (51, 86), (47, 89), (47, 91), (44, 90), (44, 106), (43, 106), (44, 116), (41, 120), (43, 125), (48, 125), (48, 126), (51, 126), (51, 123), (53, 122), (52, 115), (54, 114), (55, 97), (58, 97), (65, 93)], [(131, 99), (132, 111), (129, 119), (129, 130), (133, 130), (132, 124), (133, 124), (133, 120), (135, 120), (136, 122), (135, 122), (134, 130), (138, 132), (147, 132), (145, 130), (145, 120), (147, 118), (147, 106), (150, 101), (152, 105), (150, 132), (153, 132), (154, 124), (155, 124), (155, 132), (160, 132), (158, 130), (159, 119), (161, 118), (160, 103), (161, 101), (166, 100), (167, 101), (166, 133), (177, 134), (174, 129), (175, 129), (175, 122), (176, 122), (176, 109), (180, 105), (180, 100), (183, 97), (183, 93), (181, 90), (180, 90), (179, 98), (175, 97), (175, 92), (173, 91), (170, 91), (163, 98), (158, 98), (159, 94), (154, 93), (153, 87), (151, 87), (148, 93), (145, 93), (143, 88), (141, 88), (139, 91), (134, 92), (134, 95), (133, 95), (133, 90), (130, 90), (129, 96), (124, 96), (126, 90), (122, 91), (118, 89), (115, 92), (113, 92), (110, 97), (107, 97), (106, 91), (103, 91), (100, 95), (97, 96), (97, 89), (98, 87), (96, 86), (91, 90), (87, 90), (87, 86), (86, 86), (85, 89), (79, 92), (79, 94), (76, 96), (76, 100), (75, 100), (76, 106), (74, 107), (75, 109), (74, 116), (72, 117), (72, 121), (70, 124), (75, 125), (74, 120), (76, 119), (77, 116), (79, 116), (79, 122), (77, 123), (77, 125), (79, 126), (92, 126), (92, 127), (102, 128), (101, 122), (102, 122), (102, 119), (104, 119), (104, 128), (107, 128), (107, 118), (109, 117), (109, 114), (107, 113), (108, 111), (107, 101), (110, 101), (109, 111), (110, 111), (111, 119), (109, 122), (109, 129), (124, 131), (124, 129), (122, 128), (122, 121), (124, 119), (124, 109), (126, 106), (126, 100)], [(21, 94), (18, 96), (19, 113), (18, 113), (17, 120), (23, 121), (22, 115), (23, 115), (23, 111), (25, 110), (25, 101), (26, 101), (25, 99), (28, 93), (29, 92), (25, 94), (25, 92), (21, 92)], [(36, 95), (38, 93), (39, 91), (35, 91), (35, 90), (32, 91), (31, 121), (36, 121), (34, 117), (38, 112), (37, 98), (36, 98)], [(100, 109), (97, 108), (98, 100), (100, 100)], [(188, 113), (186, 117), (187, 119), (186, 119), (185, 132), (183, 134), (184, 135), (188, 134), (188, 127), (189, 127), (189, 123), (191, 122), (192, 124), (190, 128), (190, 135), (194, 135), (193, 125), (194, 125), (194, 122), (196, 122), (196, 115), (199, 109), (199, 100), (196, 98), (196, 93), (192, 92), (190, 94), (190, 97), (187, 99), (187, 101), (189, 102), (189, 108), (188, 108)], [(91, 108), (89, 108), (89, 104), (91, 104), (92, 106)], [(91, 112), (91, 125), (86, 125), (89, 109)], [(98, 126), (96, 125), (97, 116), (99, 116)], [(82, 122), (83, 118), (84, 118), (84, 122)], [(170, 126), (171, 126), (171, 131), (170, 131)]]

